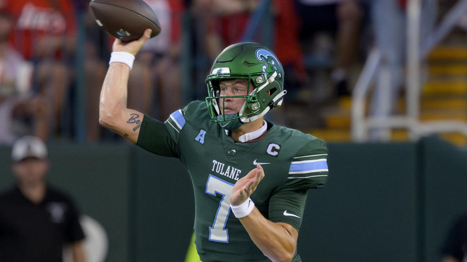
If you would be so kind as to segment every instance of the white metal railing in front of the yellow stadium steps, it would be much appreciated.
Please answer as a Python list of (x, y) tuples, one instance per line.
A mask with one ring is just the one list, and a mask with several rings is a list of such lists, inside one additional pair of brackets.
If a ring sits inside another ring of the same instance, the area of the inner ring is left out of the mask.
[[(420, 1), (409, 0), (407, 6), (407, 74), (406, 74), (406, 115), (388, 115), (384, 117), (366, 116), (366, 98), (370, 87), (377, 80), (389, 89), (391, 76), (389, 69), (381, 63), (381, 53), (373, 49), (363, 66), (362, 72), (352, 94), (352, 138), (354, 141), (363, 142), (369, 140), (371, 129), (385, 130), (387, 135), (379, 137), (379, 140), (388, 140), (390, 130), (394, 128), (407, 129), (410, 139), (418, 139), (420, 136), (440, 133), (458, 132), (467, 136), (467, 123), (464, 121), (419, 120), (420, 103), (420, 62), (455, 26), (456, 22), (467, 11), (467, 0), (459, 0), (443, 17), (439, 26), (431, 33), (424, 44), (420, 45)], [(382, 99), (390, 101), (390, 99)], [(391, 106), (391, 105), (378, 105)]]

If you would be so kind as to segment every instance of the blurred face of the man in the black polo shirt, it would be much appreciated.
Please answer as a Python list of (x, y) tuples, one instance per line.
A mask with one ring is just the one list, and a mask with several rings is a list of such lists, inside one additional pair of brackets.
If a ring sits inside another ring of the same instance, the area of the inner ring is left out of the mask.
[(13, 172), (19, 183), (37, 184), (45, 181), (49, 162), (37, 158), (26, 158), (13, 164)]

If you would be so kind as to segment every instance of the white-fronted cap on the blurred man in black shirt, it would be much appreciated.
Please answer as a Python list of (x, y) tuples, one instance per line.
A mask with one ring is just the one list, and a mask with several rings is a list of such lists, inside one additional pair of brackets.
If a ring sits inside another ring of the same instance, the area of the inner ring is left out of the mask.
[(18, 162), (28, 157), (47, 159), (47, 147), (38, 137), (26, 135), (18, 139), (11, 150), (11, 158)]

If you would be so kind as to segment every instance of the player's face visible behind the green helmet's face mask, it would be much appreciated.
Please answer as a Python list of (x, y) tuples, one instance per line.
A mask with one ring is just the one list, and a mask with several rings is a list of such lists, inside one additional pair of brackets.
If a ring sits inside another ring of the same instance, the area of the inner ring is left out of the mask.
[[(248, 95), (248, 82), (244, 79), (223, 80), (219, 82), (220, 96), (246, 96)], [(224, 100), (224, 101), (223, 101)], [(226, 115), (236, 114), (245, 103), (246, 98), (224, 98), (219, 99), (218, 104), (220, 112), (225, 112)]]

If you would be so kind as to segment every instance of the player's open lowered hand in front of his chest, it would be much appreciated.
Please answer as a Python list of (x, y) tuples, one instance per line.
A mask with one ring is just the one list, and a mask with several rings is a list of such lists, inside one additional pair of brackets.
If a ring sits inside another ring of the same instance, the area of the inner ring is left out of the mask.
[(232, 189), (232, 196), (230, 197), (230, 203), (233, 206), (238, 206), (245, 202), (248, 197), (253, 194), (258, 186), (259, 182), (264, 178), (264, 170), (261, 165), (256, 165), (256, 168), (252, 169), (243, 178), (239, 179)]

